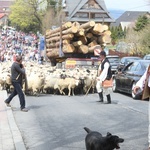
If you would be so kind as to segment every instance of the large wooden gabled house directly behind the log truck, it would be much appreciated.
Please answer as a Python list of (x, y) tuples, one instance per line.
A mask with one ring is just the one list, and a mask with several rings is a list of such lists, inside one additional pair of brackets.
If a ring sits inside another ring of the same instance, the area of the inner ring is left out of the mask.
[(107, 25), (114, 22), (109, 15), (104, 0), (63, 0), (62, 5), (67, 21), (81, 24), (95, 21)]

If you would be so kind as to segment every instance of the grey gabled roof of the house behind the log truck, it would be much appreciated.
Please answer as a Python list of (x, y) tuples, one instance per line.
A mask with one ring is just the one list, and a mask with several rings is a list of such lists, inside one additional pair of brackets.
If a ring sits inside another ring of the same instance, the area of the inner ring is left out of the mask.
[(64, 0), (65, 3), (64, 11), (68, 12), (69, 21), (89, 21), (88, 17), (77, 17), (77, 13), (95, 13), (101, 14), (101, 18), (93, 18), (95, 22), (114, 22), (114, 20), (109, 15), (109, 12), (106, 9), (104, 0), (93, 0), (96, 4), (96, 7), (88, 7), (89, 0)]

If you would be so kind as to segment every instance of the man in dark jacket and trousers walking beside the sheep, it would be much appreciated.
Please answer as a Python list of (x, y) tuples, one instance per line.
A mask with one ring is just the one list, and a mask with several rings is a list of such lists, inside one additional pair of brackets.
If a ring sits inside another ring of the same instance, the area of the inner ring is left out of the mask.
[(22, 56), (17, 56), (16, 61), (13, 62), (11, 66), (11, 81), (14, 90), (10, 94), (10, 96), (5, 100), (5, 103), (8, 107), (11, 107), (10, 105), (11, 100), (18, 94), (20, 100), (20, 109), (23, 112), (27, 112), (28, 109), (25, 108), (25, 96), (22, 91), (23, 76), (25, 76), (25, 69), (24, 66), (22, 65)]

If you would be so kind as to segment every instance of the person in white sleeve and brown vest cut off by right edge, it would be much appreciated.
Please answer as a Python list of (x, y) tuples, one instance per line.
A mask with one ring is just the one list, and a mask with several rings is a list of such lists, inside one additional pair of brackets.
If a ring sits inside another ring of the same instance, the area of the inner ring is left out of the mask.
[(150, 150), (150, 65), (146, 69), (143, 76), (140, 80), (136, 83), (135, 87), (133, 88), (133, 92), (136, 94), (138, 91), (143, 91), (142, 99), (149, 98), (149, 133), (148, 133), (148, 143), (149, 143), (149, 150)]

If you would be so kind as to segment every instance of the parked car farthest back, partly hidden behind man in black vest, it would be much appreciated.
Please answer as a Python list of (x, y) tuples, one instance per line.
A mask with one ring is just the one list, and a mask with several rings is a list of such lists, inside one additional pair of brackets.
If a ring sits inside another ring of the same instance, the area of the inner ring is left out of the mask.
[(120, 58), (118, 55), (107, 55), (106, 57), (110, 62), (111, 71), (114, 74), (117, 71), (117, 67), (120, 63)]

